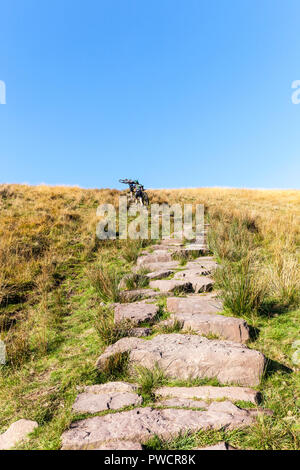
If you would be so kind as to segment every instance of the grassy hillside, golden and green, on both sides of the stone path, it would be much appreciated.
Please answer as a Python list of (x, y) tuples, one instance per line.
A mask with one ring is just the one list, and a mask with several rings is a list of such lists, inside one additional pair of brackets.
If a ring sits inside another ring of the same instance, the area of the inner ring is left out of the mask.
[[(0, 366), (0, 432), (19, 418), (37, 420), (26, 448), (59, 448), (79, 385), (126, 376), (122, 364), (102, 374), (94, 368), (105, 342), (122, 334), (109, 323), (103, 300), (117, 299), (118, 281), (142, 248), (96, 238), (97, 206), (116, 205), (118, 196), (110, 189), (0, 186), (0, 337), (8, 353)], [(251, 430), (196, 433), (149, 447), (191, 448), (226, 437), (241, 448), (299, 448), (292, 348), (300, 339), (300, 191), (204, 188), (149, 196), (205, 204), (209, 245), (221, 264), (217, 287), (226, 310), (253, 327), (249, 346), (269, 359), (261, 390), (263, 405), (274, 411)], [(164, 383), (154, 376), (151, 386)], [(146, 390), (145, 377), (138, 380)]]

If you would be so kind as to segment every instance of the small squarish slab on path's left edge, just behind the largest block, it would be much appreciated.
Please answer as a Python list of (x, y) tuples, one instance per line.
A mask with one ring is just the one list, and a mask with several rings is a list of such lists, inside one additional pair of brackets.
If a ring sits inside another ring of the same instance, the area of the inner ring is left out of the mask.
[(115, 305), (115, 323), (122, 320), (130, 320), (134, 325), (143, 322), (153, 322), (159, 307), (155, 304), (149, 304), (145, 301), (134, 302), (129, 304)]

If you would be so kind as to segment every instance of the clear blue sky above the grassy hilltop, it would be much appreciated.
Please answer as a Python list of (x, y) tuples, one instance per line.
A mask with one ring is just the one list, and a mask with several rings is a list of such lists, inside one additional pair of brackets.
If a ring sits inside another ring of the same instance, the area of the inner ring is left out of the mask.
[(300, 188), (299, 0), (2, 0), (0, 182)]

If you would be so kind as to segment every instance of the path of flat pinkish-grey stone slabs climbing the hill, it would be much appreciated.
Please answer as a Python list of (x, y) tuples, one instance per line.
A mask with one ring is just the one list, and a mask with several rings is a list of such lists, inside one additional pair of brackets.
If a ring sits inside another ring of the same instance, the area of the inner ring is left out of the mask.
[[(129, 320), (133, 326), (129, 336), (108, 346), (96, 367), (102, 370), (116, 353), (126, 352), (129, 372), (137, 365), (150, 370), (159, 367), (172, 379), (215, 378), (223, 386), (161, 387), (153, 391), (151, 406), (143, 406), (137, 384), (109, 382), (85, 387), (75, 400), (74, 412), (106, 414), (72, 423), (62, 435), (63, 449), (142, 450), (154, 435), (169, 439), (182, 432), (241, 429), (253, 424), (259, 413), (268, 412), (235, 405), (243, 401), (258, 406), (260, 394), (250, 387), (259, 385), (265, 357), (246, 346), (247, 323), (223, 314), (222, 302), (213, 290), (218, 265), (207, 256), (207, 246), (184, 246), (181, 240), (169, 239), (151, 248), (151, 253), (139, 256), (133, 268), (137, 273), (147, 269), (144, 276), (149, 288), (122, 290), (122, 303), (114, 305), (115, 323)], [(180, 264), (180, 256), (191, 252), (197, 258)], [(161, 296), (166, 297), (169, 314), (163, 321), (159, 320)], [(182, 327), (179, 333), (145, 339), (160, 324), (172, 328), (175, 322)], [(220, 442), (203, 450), (216, 449), (233, 448)]]

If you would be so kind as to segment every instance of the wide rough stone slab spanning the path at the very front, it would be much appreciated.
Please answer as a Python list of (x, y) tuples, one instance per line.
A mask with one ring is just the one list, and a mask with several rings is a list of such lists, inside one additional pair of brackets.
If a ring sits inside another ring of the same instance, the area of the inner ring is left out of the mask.
[(120, 440), (145, 443), (155, 435), (170, 439), (201, 429), (242, 429), (254, 419), (230, 402), (212, 403), (207, 411), (136, 408), (73, 423), (62, 435), (62, 449), (96, 449)]

